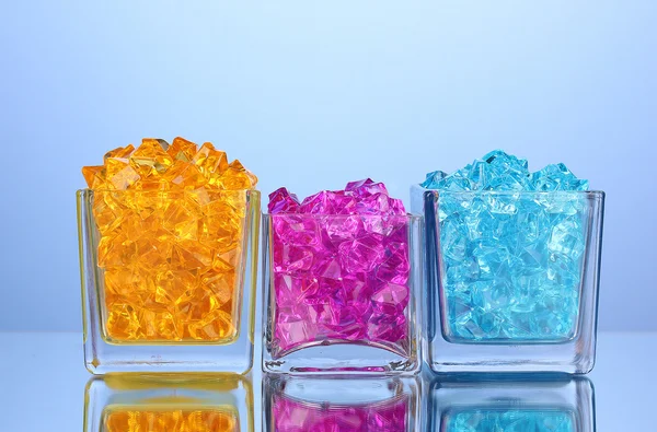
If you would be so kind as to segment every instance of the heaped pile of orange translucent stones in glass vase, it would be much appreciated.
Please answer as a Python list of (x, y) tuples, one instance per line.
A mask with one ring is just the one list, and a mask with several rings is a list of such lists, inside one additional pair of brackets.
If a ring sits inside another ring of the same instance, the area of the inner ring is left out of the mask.
[(246, 189), (257, 178), (211, 143), (182, 138), (112, 150), (82, 174), (94, 191), (107, 339), (234, 339)]

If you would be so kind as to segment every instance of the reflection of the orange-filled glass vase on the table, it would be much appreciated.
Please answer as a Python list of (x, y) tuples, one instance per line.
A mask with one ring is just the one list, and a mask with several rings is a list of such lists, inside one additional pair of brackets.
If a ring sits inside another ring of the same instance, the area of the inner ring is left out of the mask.
[(84, 432), (254, 430), (253, 388), (241, 375), (107, 375), (89, 381)]

